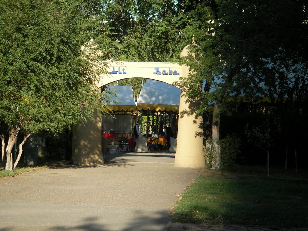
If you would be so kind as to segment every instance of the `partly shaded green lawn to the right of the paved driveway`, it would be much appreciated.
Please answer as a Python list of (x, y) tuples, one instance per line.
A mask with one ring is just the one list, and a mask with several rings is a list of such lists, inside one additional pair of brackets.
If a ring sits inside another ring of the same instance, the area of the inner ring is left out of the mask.
[(277, 178), (200, 176), (173, 209), (173, 222), (308, 227), (307, 183)]

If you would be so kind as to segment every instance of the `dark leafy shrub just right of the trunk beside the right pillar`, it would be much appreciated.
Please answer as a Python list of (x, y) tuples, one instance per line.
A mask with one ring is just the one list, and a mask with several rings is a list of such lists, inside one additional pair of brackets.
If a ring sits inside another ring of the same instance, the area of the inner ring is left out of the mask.
[(241, 153), (241, 139), (238, 138), (236, 134), (228, 134), (224, 139), (217, 141), (217, 144), (219, 144), (221, 148), (221, 169), (233, 169), (234, 164), (236, 163), (237, 154)]

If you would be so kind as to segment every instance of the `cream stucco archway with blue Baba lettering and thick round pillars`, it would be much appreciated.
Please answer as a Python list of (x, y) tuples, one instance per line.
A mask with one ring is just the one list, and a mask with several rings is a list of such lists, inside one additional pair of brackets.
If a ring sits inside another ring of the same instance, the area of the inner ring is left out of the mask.
[[(197, 104), (186, 102), (185, 87), (180, 77), (188, 77), (188, 67), (175, 63), (106, 62), (109, 74), (102, 75), (97, 87), (120, 79), (147, 78), (169, 83), (181, 89), (177, 136), (176, 167), (205, 166), (203, 153), (202, 117), (195, 114)], [(95, 115), (85, 126), (73, 131), (73, 162), (75, 164), (103, 164), (101, 155), (101, 115)]]

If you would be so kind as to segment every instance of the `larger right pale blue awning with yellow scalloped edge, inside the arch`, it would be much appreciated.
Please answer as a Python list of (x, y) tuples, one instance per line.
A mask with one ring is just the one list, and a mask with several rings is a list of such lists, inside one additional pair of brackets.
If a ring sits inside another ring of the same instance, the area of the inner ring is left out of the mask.
[(147, 79), (137, 101), (138, 110), (179, 112), (180, 88)]

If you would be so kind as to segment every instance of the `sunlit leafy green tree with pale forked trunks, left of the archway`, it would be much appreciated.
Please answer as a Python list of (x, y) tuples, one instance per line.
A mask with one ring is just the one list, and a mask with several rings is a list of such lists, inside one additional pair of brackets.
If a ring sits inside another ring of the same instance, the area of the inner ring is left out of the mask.
[(91, 38), (95, 18), (90, 13), (79, 0), (2, 2), (0, 138), (5, 169), (16, 167), (31, 134), (61, 132), (99, 110), (98, 69), (90, 56), (95, 47), (87, 43), (80, 49)]

